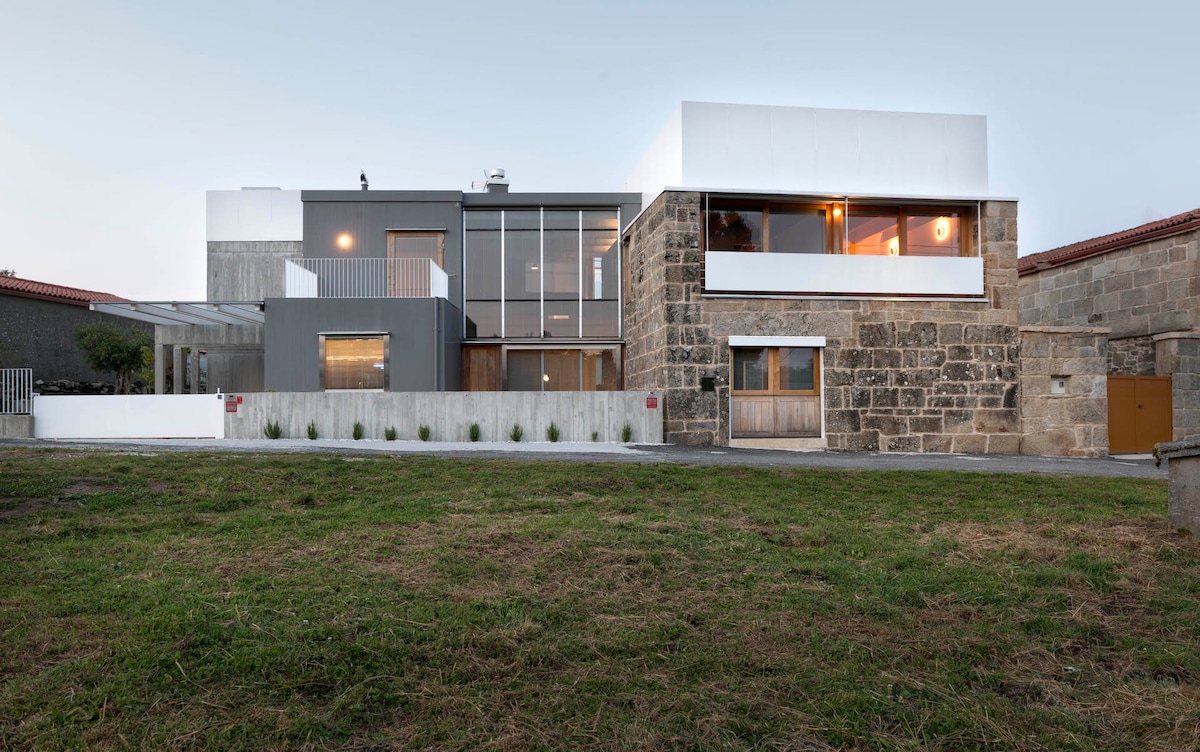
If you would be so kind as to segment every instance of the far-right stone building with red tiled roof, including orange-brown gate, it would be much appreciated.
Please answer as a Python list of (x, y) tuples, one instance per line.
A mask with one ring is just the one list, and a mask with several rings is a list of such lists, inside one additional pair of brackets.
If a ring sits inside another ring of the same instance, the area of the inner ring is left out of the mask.
[(1200, 433), (1198, 263), (1200, 210), (1019, 261), (1022, 327), (1097, 331), (1114, 453)]

